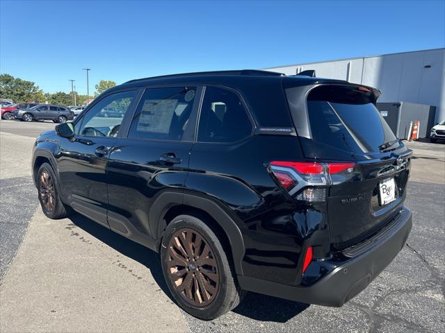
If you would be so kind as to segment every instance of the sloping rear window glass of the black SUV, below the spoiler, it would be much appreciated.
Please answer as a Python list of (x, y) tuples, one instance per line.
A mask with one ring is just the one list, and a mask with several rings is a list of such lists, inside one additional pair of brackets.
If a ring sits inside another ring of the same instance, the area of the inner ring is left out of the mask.
[(312, 139), (352, 153), (378, 152), (396, 140), (373, 103), (307, 101)]

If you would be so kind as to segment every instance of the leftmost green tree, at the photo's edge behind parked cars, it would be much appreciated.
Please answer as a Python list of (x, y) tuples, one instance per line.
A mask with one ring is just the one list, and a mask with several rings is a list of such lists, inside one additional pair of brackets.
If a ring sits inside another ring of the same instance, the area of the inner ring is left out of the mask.
[(43, 102), (43, 93), (32, 81), (15, 78), (9, 74), (1, 74), (0, 98), (12, 99), (15, 102)]

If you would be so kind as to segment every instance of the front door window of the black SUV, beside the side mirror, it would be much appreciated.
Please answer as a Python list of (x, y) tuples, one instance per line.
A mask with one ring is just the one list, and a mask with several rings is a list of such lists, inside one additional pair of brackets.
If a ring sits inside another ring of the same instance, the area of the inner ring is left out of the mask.
[[(136, 90), (131, 90), (106, 96), (90, 108), (81, 121), (76, 123), (75, 132), (88, 137), (116, 137), (123, 116), (136, 94)], [(117, 114), (106, 114), (105, 109), (108, 108), (117, 110)]]

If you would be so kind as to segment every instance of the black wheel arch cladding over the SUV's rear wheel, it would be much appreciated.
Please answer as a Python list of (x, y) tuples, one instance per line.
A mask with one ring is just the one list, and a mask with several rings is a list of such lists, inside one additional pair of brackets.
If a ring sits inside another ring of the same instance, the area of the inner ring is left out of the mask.
[(163, 192), (156, 198), (149, 212), (149, 227), (156, 240), (157, 249), (162, 244), (162, 237), (168, 223), (176, 216), (190, 214), (202, 219), (216, 234), (223, 237), (223, 246), (229, 250), (237, 275), (243, 275), (241, 262), (245, 254), (243, 236), (238, 225), (218, 203), (195, 194)]

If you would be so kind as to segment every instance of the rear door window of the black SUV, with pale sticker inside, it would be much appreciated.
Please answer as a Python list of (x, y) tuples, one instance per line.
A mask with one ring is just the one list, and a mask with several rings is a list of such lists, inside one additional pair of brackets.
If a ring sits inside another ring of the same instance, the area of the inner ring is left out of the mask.
[(196, 87), (147, 89), (131, 123), (133, 139), (181, 140), (195, 101)]

